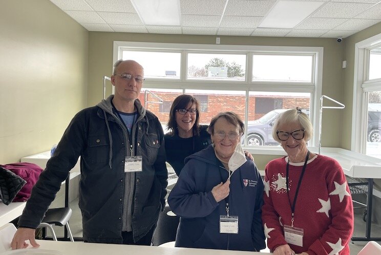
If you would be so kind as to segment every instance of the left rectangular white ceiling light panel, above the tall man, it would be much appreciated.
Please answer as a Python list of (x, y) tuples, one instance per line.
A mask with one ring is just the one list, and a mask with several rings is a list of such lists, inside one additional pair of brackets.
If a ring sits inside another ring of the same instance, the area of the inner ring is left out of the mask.
[(180, 26), (179, 0), (131, 0), (145, 25)]

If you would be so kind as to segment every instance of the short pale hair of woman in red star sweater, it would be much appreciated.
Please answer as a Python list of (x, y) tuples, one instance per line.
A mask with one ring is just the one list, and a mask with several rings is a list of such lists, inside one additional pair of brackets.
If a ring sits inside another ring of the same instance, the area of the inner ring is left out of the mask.
[(287, 110), (284, 113), (281, 113), (279, 115), (278, 119), (275, 121), (272, 127), (272, 138), (274, 138), (274, 140), (281, 143), (282, 141), (279, 140), (277, 136), (277, 131), (279, 131), (278, 127), (281, 124), (290, 124), (290, 123), (299, 123), (302, 126), (302, 129), (305, 130), (304, 139), (306, 141), (311, 139), (313, 135), (311, 120), (309, 119), (308, 115), (302, 112), (299, 108)]

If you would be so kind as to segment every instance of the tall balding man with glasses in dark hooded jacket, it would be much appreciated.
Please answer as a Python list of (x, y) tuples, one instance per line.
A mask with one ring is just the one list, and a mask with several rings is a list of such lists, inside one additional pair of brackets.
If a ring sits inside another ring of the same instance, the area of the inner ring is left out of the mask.
[(84, 242), (151, 245), (167, 186), (164, 134), (158, 118), (137, 99), (143, 67), (114, 65), (115, 95), (71, 121), (32, 190), (12, 249), (25, 248), (70, 169), (81, 156), (79, 207)]

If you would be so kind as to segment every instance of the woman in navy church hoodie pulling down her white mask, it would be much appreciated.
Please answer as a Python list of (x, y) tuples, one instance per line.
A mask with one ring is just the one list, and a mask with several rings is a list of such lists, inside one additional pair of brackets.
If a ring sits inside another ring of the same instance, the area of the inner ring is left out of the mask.
[(175, 246), (259, 251), (265, 248), (264, 185), (241, 147), (244, 124), (224, 112), (211, 120), (208, 133), (213, 146), (185, 158), (168, 197), (180, 216)]

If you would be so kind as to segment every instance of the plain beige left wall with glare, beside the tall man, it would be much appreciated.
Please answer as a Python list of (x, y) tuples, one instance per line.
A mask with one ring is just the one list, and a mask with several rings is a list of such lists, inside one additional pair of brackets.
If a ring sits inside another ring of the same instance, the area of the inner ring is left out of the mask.
[(87, 106), (89, 32), (48, 0), (0, 0), (0, 164), (50, 150)]

